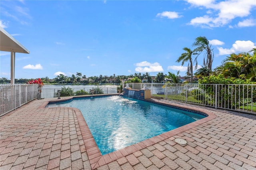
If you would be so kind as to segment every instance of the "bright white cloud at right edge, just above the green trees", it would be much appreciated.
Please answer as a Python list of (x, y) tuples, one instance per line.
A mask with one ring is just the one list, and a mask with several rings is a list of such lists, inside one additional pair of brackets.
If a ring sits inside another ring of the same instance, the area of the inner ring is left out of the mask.
[(256, 48), (255, 43), (251, 41), (240, 41), (237, 40), (230, 49), (217, 47), (219, 50), (219, 55), (230, 55), (231, 53), (238, 53), (238, 52), (248, 52), (252, 48)]

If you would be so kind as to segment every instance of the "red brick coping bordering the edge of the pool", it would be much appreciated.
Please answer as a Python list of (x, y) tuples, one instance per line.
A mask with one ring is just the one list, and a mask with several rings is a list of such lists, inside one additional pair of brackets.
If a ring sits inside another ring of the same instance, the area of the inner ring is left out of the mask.
[[(72, 97), (68, 98), (68, 99), (72, 99)], [(61, 101), (66, 101), (67, 99), (59, 99), (58, 102)], [(171, 105), (174, 107), (180, 107), (183, 109), (189, 109), (192, 111), (199, 111), (202, 113), (205, 113), (208, 115), (208, 117), (205, 117), (203, 119), (200, 119), (198, 121), (195, 121), (193, 123), (184, 125), (182, 127), (176, 128), (174, 130), (170, 130), (168, 132), (165, 132), (163, 134), (154, 136), (152, 138), (143, 140), (141, 142), (138, 142), (136, 144), (133, 144), (131, 146), (127, 146), (125, 148), (122, 148), (120, 150), (116, 150), (114, 152), (111, 152), (109, 154), (105, 154), (102, 155), (95, 140), (94, 137), (92, 136), (92, 133), (90, 132), (90, 129), (81, 113), (81, 111), (77, 108), (72, 108), (77, 116), (78, 119), (78, 125), (80, 127), (81, 133), (82, 133), (82, 138), (84, 140), (84, 145), (86, 148), (86, 152), (90, 161), (90, 165), (92, 169), (96, 169), (100, 166), (106, 165), (110, 162), (113, 162), (115, 160), (118, 160), (119, 158), (122, 158), (124, 156), (128, 156), (129, 154), (132, 154), (136, 151), (142, 150), (144, 148), (147, 148), (148, 146), (154, 145), (158, 142), (161, 142), (163, 140), (166, 140), (172, 136), (175, 136), (181, 132), (184, 132), (186, 130), (189, 130), (191, 128), (194, 128), (198, 125), (201, 125), (203, 123), (206, 123), (208, 121), (211, 121), (212, 119), (216, 118), (216, 115), (214, 113), (211, 113), (209, 111), (207, 111), (206, 109), (203, 108), (195, 108), (192, 106), (187, 106), (187, 105), (181, 105), (181, 104), (177, 104), (177, 103), (169, 103), (169, 102), (165, 102), (162, 100), (158, 100), (158, 99), (149, 99), (150, 101), (153, 101), (154, 103), (161, 103), (164, 105)], [(56, 100), (54, 100), (56, 101)], [(46, 101), (43, 103), (43, 105), (41, 105), (38, 109), (45, 109), (46, 105), (48, 105), (49, 102), (52, 101)]]

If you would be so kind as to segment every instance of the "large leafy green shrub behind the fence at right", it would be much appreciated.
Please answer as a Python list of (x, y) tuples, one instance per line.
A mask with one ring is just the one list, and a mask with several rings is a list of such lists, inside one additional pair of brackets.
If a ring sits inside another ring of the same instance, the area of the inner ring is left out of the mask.
[[(203, 77), (199, 80), (200, 84), (207, 84), (201, 87), (201, 91), (196, 93), (194, 98), (204, 101), (206, 104), (215, 103), (215, 93), (218, 93), (217, 103), (219, 107), (234, 108), (242, 105), (245, 100), (256, 100), (256, 89), (249, 84), (254, 84), (248, 79), (244, 79), (241, 75), (241, 79), (234, 77), (225, 78), (223, 75), (212, 75), (209, 77)], [(215, 91), (215, 85), (217, 85), (217, 91)], [(246, 84), (246, 86), (240, 86)], [(247, 86), (249, 85), (249, 86)], [(252, 96), (250, 95), (252, 93)], [(246, 94), (249, 94), (246, 96)], [(210, 102), (210, 103), (209, 103)]]

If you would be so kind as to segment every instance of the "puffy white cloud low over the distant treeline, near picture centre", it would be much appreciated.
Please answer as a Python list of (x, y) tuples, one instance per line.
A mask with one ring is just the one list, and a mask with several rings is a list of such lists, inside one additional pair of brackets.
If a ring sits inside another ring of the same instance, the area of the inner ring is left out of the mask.
[(140, 63), (135, 63), (134, 65), (137, 66), (135, 68), (135, 71), (137, 71), (139, 73), (164, 71), (162, 66), (157, 62), (156, 63), (149, 63), (148, 61), (142, 61)]

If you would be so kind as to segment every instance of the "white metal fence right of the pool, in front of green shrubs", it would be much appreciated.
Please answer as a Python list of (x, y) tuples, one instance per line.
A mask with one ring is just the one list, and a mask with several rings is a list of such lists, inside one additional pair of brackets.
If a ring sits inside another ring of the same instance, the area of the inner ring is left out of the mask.
[(129, 83), (132, 89), (144, 84), (151, 96), (256, 114), (256, 85)]

